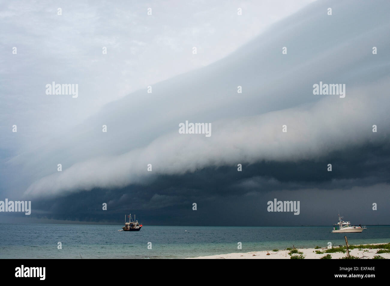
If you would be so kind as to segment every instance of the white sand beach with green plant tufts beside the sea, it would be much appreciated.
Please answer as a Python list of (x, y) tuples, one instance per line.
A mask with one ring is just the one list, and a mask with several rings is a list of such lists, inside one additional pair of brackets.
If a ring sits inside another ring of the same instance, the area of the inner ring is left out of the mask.
[[(383, 243), (370, 243), (370, 244), (383, 244)], [(342, 258), (344, 256), (347, 256), (346, 253), (342, 252), (335, 252), (335, 253), (323, 253), (323, 254), (316, 254), (316, 250), (325, 251), (326, 248), (320, 248), (320, 249), (314, 249), (314, 248), (301, 248), (298, 249), (300, 252), (303, 252), (303, 255), (305, 255), (305, 259), (319, 259), (323, 257), (326, 254), (330, 254), (332, 256), (332, 259), (338, 259)], [(368, 250), (368, 251), (364, 251)], [(362, 249), (358, 250), (357, 248), (349, 250), (349, 255), (357, 256), (357, 257), (364, 257), (363, 259), (367, 258), (373, 258), (375, 255), (380, 255), (383, 258), (390, 259), (390, 253), (380, 253), (377, 254), (376, 252), (378, 249)], [(221, 254), (221, 255), (212, 255), (212, 256), (200, 256), (200, 257), (194, 257), (194, 258), (187, 258), (187, 259), (291, 259), (291, 256), (289, 255), (290, 250), (279, 250), (279, 251), (253, 251), (253, 252), (239, 252), (239, 253), (229, 253), (229, 254)], [(267, 255), (269, 253), (269, 255)], [(296, 255), (296, 254), (293, 254)]]

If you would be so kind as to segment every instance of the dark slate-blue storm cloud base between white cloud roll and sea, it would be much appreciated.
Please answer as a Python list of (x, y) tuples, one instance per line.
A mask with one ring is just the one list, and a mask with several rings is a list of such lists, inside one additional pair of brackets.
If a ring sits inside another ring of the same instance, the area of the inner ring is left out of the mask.
[[(131, 212), (147, 224), (213, 225), (220, 221), (229, 225), (221, 213), (229, 216), (231, 207), (231, 211), (241, 214), (252, 211), (247, 214), (248, 225), (282, 224), (285, 220), (296, 225), (329, 224), (331, 222), (322, 218), (321, 212), (311, 214), (318, 220), (316, 223), (308, 221), (308, 210), (313, 205), (335, 206), (336, 203), (339, 210), (352, 214), (354, 207), (340, 204), (340, 201), (356, 200), (355, 207), (369, 218), (356, 215), (366, 219), (365, 223), (375, 223), (372, 203), (379, 203), (381, 213), (388, 215), (389, 196), (381, 195), (390, 191), (389, 160), (387, 146), (367, 145), (333, 152), (331, 156), (315, 161), (243, 165), (242, 172), (238, 172), (236, 166), (206, 168), (181, 176), (159, 176), (148, 185), (93, 189), (66, 197), (33, 200), (32, 217), (120, 223), (123, 214)], [(326, 170), (328, 162), (332, 162), (332, 172)], [(291, 220), (293, 218), (286, 213), (270, 215), (266, 203), (274, 197), (301, 201), (303, 213), (300, 218)], [(102, 203), (107, 203), (107, 211), (102, 210)], [(197, 203), (197, 211), (192, 210), (193, 203)], [(339, 210), (336, 207), (324, 211), (332, 217), (332, 211)], [(253, 217), (253, 213), (259, 217)], [(261, 217), (267, 218), (266, 223)]]

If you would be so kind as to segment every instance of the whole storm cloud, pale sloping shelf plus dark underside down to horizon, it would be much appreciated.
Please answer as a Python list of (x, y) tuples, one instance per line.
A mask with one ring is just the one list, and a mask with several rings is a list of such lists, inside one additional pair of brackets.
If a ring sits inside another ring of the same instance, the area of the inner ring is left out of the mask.
[[(390, 45), (389, 6), (314, 3), (228, 57), (24, 149), (7, 163), (27, 182), (32, 216), (121, 223), (131, 212), (147, 224), (301, 225), (328, 224), (340, 208), (385, 222), (390, 55), (373, 55), (372, 46)], [(314, 95), (320, 81), (345, 84), (346, 97)], [(185, 120), (211, 123), (211, 137), (179, 134)], [(267, 212), (274, 198), (301, 201), (300, 215)]]

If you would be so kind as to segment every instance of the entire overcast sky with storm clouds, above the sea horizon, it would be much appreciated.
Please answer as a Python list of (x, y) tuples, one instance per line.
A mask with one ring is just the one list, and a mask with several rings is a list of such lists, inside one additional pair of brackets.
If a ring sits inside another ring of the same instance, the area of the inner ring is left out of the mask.
[(34, 222), (389, 224), (390, 4), (312, 2), (3, 2), (0, 200)]

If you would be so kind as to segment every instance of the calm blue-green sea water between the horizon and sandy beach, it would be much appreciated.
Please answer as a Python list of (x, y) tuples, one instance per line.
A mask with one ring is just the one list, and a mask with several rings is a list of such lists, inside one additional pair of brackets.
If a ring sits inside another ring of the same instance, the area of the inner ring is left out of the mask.
[[(231, 252), (344, 245), (330, 226), (199, 227), (122, 225), (0, 224), (0, 258), (186, 258)], [(367, 226), (348, 233), (348, 243), (390, 242), (390, 226)], [(62, 249), (57, 249), (57, 243)], [(148, 249), (148, 242), (152, 249)], [(242, 250), (237, 243), (242, 243)]]

